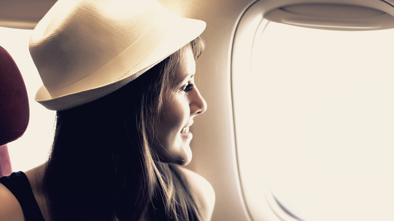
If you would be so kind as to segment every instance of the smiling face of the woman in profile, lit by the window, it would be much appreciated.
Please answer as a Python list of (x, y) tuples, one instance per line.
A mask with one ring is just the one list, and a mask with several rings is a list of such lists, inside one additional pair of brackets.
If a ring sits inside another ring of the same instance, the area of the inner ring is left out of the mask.
[(152, 146), (162, 162), (186, 165), (191, 160), (189, 128), (193, 118), (207, 109), (207, 103), (194, 85), (194, 74), (195, 62), (188, 45), (175, 68), (168, 100), (163, 103), (159, 120), (153, 125), (156, 137)]

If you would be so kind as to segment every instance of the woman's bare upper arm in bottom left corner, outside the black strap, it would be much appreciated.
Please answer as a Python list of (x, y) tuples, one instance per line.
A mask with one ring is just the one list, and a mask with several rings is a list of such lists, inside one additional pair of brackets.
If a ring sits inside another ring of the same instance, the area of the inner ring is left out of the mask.
[(3, 184), (0, 184), (0, 220), (25, 220), (18, 200)]

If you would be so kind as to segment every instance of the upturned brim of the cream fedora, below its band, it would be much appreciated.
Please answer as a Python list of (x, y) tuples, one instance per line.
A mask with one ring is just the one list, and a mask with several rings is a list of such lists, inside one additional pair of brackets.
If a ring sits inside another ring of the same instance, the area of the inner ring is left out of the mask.
[(204, 21), (195, 19), (177, 18), (174, 22), (176, 24), (171, 26), (173, 30), (169, 31), (164, 40), (148, 56), (134, 67), (130, 67), (130, 70), (116, 81), (57, 97), (51, 96), (50, 92), (42, 85), (36, 93), (35, 100), (47, 109), (62, 111), (101, 98), (121, 88), (166, 59), (170, 54), (200, 36), (206, 27)]

